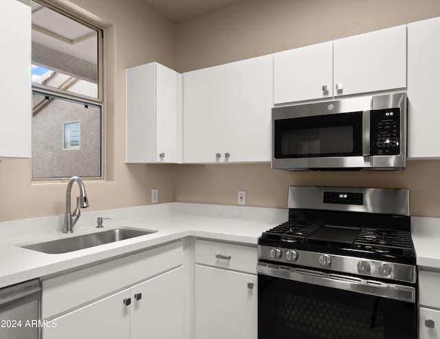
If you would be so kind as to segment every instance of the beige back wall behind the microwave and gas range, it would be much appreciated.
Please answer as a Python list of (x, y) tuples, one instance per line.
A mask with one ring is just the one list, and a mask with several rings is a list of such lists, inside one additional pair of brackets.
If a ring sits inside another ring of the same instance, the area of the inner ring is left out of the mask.
[[(177, 69), (187, 72), (440, 16), (437, 0), (250, 0), (177, 24)], [(440, 217), (440, 162), (408, 162), (399, 172), (289, 173), (270, 164), (184, 165), (176, 200), (287, 207), (287, 186), (366, 186), (410, 189), (412, 215)]]

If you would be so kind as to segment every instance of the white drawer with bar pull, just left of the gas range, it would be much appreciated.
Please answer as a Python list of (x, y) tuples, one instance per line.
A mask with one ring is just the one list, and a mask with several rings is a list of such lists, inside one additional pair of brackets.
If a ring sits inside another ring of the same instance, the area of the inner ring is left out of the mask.
[(195, 262), (256, 274), (256, 247), (197, 239)]

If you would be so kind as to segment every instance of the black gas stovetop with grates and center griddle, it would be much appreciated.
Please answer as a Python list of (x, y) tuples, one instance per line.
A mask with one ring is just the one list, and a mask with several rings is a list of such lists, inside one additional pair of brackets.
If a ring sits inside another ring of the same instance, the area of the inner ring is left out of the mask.
[(263, 232), (259, 245), (415, 265), (415, 250), (408, 230), (329, 226), (291, 220)]

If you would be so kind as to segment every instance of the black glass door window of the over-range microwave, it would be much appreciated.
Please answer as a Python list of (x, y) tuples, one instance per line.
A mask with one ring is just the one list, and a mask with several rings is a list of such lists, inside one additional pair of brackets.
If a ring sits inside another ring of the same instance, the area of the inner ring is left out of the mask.
[(275, 157), (362, 155), (362, 112), (275, 120)]

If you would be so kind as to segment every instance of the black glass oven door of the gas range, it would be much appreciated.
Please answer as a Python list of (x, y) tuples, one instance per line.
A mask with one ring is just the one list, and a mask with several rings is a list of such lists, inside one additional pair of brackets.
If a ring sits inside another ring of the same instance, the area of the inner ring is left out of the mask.
[(397, 295), (387, 298), (355, 292), (358, 287), (350, 287), (351, 277), (347, 277), (346, 288), (340, 289), (329, 285), (343, 287), (343, 278), (339, 278), (340, 284), (335, 278), (336, 284), (316, 285), (307, 281), (310, 277), (319, 283), (319, 273), (304, 270), (298, 274), (302, 275), (300, 281), (290, 280), (292, 272), (282, 272), (285, 277), (281, 278), (259, 270), (259, 339), (417, 338), (417, 307), (415, 300), (408, 301), (415, 298), (415, 289), (410, 297), (408, 287), (401, 295), (408, 300), (399, 300)]

